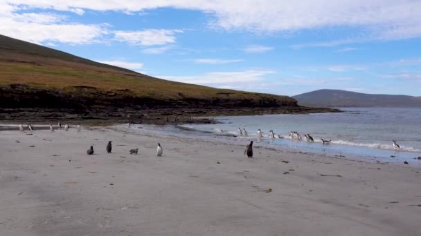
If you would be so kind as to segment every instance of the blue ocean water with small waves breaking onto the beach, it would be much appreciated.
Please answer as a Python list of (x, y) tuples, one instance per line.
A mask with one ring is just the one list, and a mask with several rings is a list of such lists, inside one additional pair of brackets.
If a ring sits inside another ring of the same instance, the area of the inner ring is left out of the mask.
[[(248, 144), (255, 140), (257, 146), (286, 149), (292, 152), (315, 153), (370, 161), (420, 164), (421, 108), (340, 108), (340, 113), (315, 113), (303, 115), (258, 115), (215, 117), (219, 124), (184, 124), (182, 126), (143, 127), (150, 132), (166, 132), (175, 136), (190, 136), (235, 144)], [(183, 128), (188, 128), (185, 130)], [(247, 137), (238, 128), (245, 128)], [(257, 130), (264, 132), (258, 139)], [(274, 130), (280, 138), (269, 138)], [(291, 131), (303, 138), (310, 134), (314, 142), (293, 140)], [(237, 137), (234, 137), (237, 136)], [(323, 145), (323, 139), (332, 139)], [(393, 148), (393, 141), (400, 150)]]

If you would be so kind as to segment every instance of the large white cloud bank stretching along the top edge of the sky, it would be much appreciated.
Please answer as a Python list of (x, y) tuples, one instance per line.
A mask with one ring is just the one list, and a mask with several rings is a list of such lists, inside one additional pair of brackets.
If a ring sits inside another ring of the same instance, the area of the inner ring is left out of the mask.
[[(211, 25), (226, 30), (291, 32), (335, 26), (364, 28), (377, 39), (421, 36), (419, 0), (167, 0), (62, 1), (3, 0), (13, 6), (66, 10), (143, 12), (156, 8), (200, 10), (213, 16)], [(303, 17), (304, 16), (304, 17)]]

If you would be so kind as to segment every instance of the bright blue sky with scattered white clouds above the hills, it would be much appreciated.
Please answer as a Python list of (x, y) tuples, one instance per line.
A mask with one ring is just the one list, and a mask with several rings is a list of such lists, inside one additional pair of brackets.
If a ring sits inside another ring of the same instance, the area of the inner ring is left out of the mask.
[(421, 0), (0, 0), (0, 34), (162, 79), (421, 96)]

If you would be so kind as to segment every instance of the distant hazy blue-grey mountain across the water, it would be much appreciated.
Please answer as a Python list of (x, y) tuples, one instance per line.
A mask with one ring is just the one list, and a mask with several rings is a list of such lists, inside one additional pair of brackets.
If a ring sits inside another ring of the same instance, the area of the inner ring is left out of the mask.
[(328, 107), (421, 107), (421, 97), (371, 95), (345, 90), (322, 89), (293, 96), (301, 106)]

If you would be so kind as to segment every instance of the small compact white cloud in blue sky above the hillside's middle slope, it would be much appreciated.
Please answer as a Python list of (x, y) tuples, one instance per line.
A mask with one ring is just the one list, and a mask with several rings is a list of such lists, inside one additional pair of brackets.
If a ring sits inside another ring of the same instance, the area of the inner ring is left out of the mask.
[(114, 35), (118, 41), (126, 41), (141, 46), (153, 46), (175, 43), (174, 34), (179, 32), (183, 32), (183, 30), (115, 31)]

